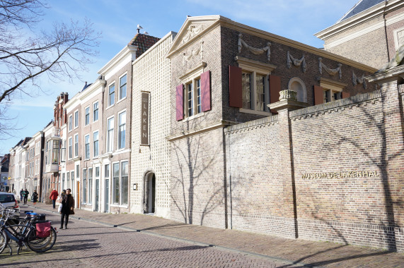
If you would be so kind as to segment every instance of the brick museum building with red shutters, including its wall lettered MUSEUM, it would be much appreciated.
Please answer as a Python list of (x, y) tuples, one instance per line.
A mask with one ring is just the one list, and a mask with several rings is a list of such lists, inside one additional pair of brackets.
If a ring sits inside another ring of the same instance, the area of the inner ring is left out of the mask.
[(171, 219), (403, 250), (375, 68), (221, 16), (187, 18), (168, 58)]

